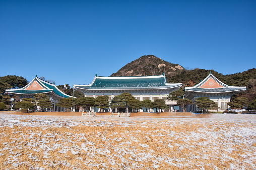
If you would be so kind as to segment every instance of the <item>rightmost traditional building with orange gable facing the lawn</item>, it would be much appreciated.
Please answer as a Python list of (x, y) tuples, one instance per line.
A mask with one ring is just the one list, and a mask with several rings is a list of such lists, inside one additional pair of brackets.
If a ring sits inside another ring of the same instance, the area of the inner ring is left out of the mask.
[[(185, 97), (193, 100), (194, 103), (197, 97), (209, 97), (218, 104), (218, 111), (224, 111), (229, 108), (227, 103), (230, 102), (231, 96), (245, 90), (246, 87), (228, 86), (222, 83), (210, 72), (210, 74), (196, 86), (185, 87)], [(198, 108), (195, 104), (189, 105), (187, 111), (195, 112), (198, 111)]]

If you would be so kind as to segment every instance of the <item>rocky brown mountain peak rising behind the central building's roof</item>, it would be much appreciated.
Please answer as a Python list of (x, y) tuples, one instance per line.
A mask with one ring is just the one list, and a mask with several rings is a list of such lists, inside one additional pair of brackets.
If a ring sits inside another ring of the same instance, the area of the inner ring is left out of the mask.
[(126, 64), (110, 77), (154, 76), (163, 73), (165, 73), (166, 77), (172, 77), (182, 70), (184, 68), (178, 64), (169, 63), (154, 55), (147, 55)]

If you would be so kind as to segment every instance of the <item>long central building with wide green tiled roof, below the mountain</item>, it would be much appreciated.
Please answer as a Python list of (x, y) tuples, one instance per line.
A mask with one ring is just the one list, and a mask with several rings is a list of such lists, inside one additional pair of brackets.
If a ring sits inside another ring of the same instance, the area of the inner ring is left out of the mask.
[[(170, 92), (178, 90), (182, 83), (166, 83), (165, 74), (159, 76), (136, 76), (136, 77), (100, 77), (95, 75), (89, 85), (78, 85), (74, 87), (84, 93), (85, 97), (109, 96), (109, 101), (114, 96), (122, 93), (131, 93), (136, 99), (142, 101), (150, 99), (164, 99), (169, 106), (169, 111), (174, 111), (176, 102), (168, 101)], [(111, 110), (110, 110), (111, 111)], [(151, 112), (153, 110), (150, 110)]]

